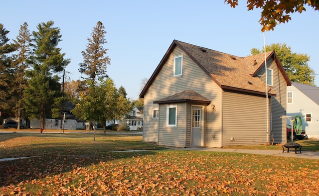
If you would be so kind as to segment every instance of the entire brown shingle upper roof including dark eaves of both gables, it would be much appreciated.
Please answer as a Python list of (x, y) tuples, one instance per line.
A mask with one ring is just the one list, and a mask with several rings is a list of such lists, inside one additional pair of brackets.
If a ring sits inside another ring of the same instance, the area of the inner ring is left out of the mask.
[[(237, 57), (174, 40), (141, 92), (140, 97), (144, 97), (148, 88), (160, 72), (161, 67), (176, 46), (180, 47), (220, 88), (266, 95), (266, 84), (255, 76), (258, 69), (264, 65), (264, 54)], [(266, 58), (270, 57), (275, 58), (287, 84), (290, 85), (291, 82), (274, 51), (266, 52)], [(276, 96), (274, 90), (268, 89), (268, 92), (271, 96)]]

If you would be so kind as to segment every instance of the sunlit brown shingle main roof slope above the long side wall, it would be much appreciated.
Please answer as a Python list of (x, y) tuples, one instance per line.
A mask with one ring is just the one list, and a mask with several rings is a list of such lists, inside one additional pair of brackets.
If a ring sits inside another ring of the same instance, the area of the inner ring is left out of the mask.
[[(256, 93), (266, 92), (266, 84), (260, 78), (250, 75), (251, 66), (246, 65), (245, 58), (206, 48), (203, 51), (203, 48), (199, 46), (180, 41), (176, 43), (185, 52), (187, 51), (188, 56), (193, 60), (196, 59), (197, 64), (206, 70), (221, 88), (230, 87)], [(257, 56), (260, 57), (260, 55)], [(275, 95), (276, 93), (270, 90), (270, 94)]]

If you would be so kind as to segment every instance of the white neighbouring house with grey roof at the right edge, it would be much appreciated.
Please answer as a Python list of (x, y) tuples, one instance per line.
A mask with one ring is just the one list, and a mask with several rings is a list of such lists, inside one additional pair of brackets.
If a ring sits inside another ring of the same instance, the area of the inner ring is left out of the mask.
[(296, 82), (287, 87), (287, 116), (295, 115), (304, 115), (303, 129), (308, 138), (319, 139), (319, 87)]

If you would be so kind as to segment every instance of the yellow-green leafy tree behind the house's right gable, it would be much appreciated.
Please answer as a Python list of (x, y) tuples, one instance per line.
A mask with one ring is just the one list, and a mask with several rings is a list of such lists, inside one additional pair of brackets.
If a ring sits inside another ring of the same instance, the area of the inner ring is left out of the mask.
[[(307, 85), (315, 85), (315, 71), (308, 65), (310, 57), (307, 54), (297, 54), (285, 43), (273, 43), (266, 46), (266, 51), (274, 50), (284, 66), (291, 81)], [(252, 48), (251, 54), (259, 54), (264, 49)]]

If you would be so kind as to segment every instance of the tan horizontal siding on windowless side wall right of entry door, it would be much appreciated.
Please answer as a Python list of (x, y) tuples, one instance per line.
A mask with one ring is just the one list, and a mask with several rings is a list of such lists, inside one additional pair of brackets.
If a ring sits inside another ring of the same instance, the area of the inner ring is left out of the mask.
[(265, 107), (265, 97), (224, 91), (222, 146), (266, 144)]

